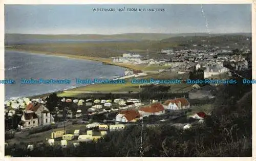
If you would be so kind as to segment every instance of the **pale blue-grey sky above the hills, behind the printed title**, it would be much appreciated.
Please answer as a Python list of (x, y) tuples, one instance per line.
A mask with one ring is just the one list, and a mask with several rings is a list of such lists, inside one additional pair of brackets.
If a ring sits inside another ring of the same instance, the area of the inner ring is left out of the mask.
[[(117, 11), (124, 7), (124, 12)], [(95, 12), (93, 8), (116, 11)], [(127, 8), (161, 8), (165, 12), (128, 12)], [(251, 5), (5, 5), (5, 33), (208, 32), (251, 33)]]

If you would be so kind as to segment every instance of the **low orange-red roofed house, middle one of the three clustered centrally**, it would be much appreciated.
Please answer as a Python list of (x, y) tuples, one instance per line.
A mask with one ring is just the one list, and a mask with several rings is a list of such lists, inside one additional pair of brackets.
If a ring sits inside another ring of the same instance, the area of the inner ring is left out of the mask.
[(163, 105), (161, 105), (160, 103), (153, 103), (149, 107), (141, 107), (139, 109), (139, 113), (142, 117), (148, 117), (151, 115), (164, 114), (165, 110)]

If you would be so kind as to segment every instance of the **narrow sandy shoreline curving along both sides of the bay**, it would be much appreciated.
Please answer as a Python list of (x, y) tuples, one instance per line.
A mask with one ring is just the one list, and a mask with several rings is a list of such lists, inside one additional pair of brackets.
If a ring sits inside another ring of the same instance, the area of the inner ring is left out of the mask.
[[(83, 59), (83, 60), (89, 60), (89, 61), (98, 61), (98, 62), (102, 62), (106, 65), (114, 65), (114, 66), (119, 66), (119, 67), (123, 67), (123, 68), (129, 68), (129, 67), (125, 67), (125, 66), (122, 66), (122, 65), (119, 65), (119, 64), (112, 64), (111, 59), (108, 59), (108, 58), (97, 58), (97, 57), (88, 57), (88, 56), (79, 56), (79, 55), (70, 55), (70, 54), (61, 54), (61, 53), (47, 53), (47, 52), (15, 50), (15, 49), (5, 49), (5, 50), (7, 50), (7, 51), (16, 51), (16, 52), (27, 52), (27, 53), (31, 53), (31, 54), (51, 55), (51, 56), (58, 56), (58, 57), (64, 57), (64, 58), (70, 58), (70, 59)], [(130, 69), (133, 70), (132, 68), (130, 68)], [(110, 79), (115, 79), (115, 78), (110, 78)], [(84, 88), (85, 86), (90, 86), (90, 85), (94, 85), (94, 84), (87, 84), (87, 85), (84, 85), (84, 86), (75, 87), (75, 88), (67, 89), (67, 90), (58, 90), (58, 91), (55, 91), (55, 92), (52, 92), (52, 93), (46, 93), (46, 94), (35, 95), (35, 96), (28, 96), (28, 98), (34, 99), (34, 98), (39, 98), (39, 97), (40, 98), (48, 97), (49, 95), (51, 95), (53, 93), (56, 93), (57, 95), (58, 94), (63, 94), (63, 93), (65, 93), (65, 91)]]

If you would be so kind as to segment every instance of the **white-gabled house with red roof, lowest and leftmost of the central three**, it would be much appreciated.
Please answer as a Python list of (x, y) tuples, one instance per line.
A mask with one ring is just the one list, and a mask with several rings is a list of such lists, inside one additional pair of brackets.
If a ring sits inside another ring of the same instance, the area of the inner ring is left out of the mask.
[(124, 110), (117, 114), (116, 121), (117, 122), (135, 122), (139, 119), (140, 113), (136, 110)]

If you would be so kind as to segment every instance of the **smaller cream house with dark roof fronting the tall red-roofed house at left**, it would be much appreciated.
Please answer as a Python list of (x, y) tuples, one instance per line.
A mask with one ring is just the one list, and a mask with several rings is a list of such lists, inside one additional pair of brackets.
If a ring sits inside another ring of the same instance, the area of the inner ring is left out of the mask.
[(20, 129), (28, 129), (38, 126), (38, 118), (35, 112), (24, 112), (21, 121), (18, 123)]

